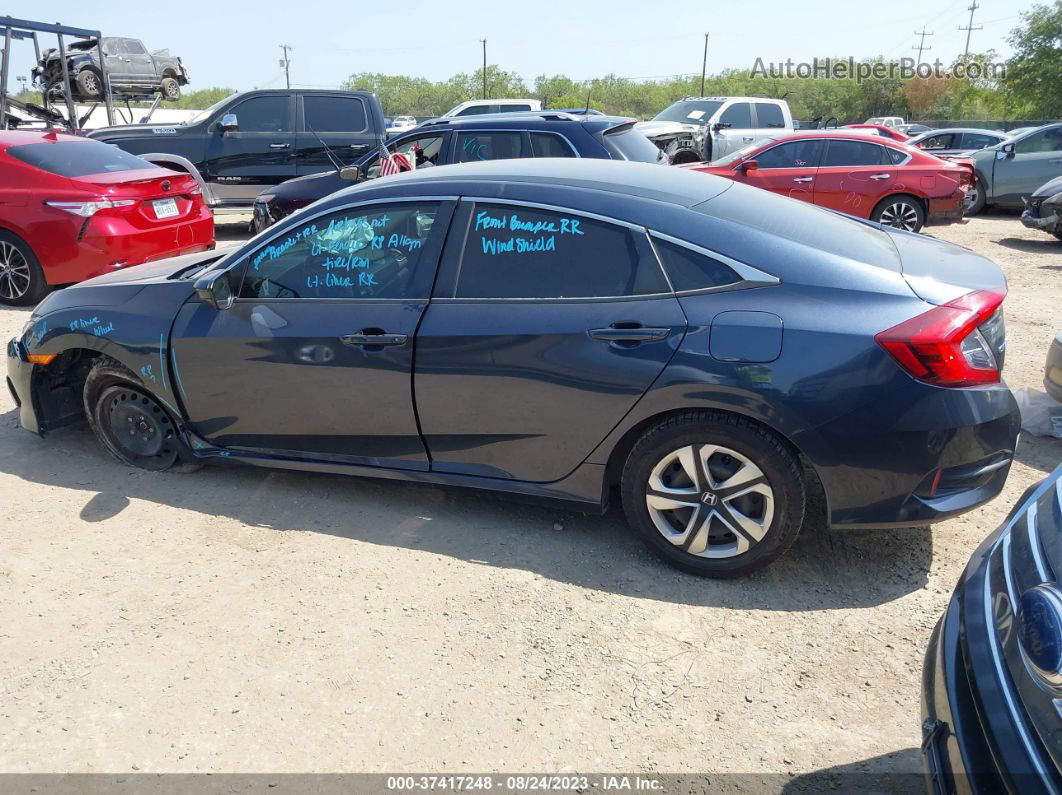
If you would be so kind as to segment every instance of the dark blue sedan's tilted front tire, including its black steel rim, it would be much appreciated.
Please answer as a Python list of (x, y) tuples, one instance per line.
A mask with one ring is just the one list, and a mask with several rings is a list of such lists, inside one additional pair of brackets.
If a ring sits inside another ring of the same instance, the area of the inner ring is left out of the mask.
[(194, 471), (181, 456), (177, 424), (127, 368), (101, 357), (85, 379), (85, 416), (116, 459), (151, 471)]

